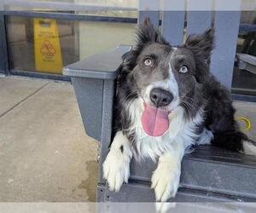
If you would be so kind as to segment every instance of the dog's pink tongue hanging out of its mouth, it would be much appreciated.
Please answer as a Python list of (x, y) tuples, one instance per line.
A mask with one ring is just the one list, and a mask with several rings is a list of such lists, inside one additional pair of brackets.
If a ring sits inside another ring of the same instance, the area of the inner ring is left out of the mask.
[(143, 130), (148, 135), (163, 135), (169, 128), (168, 112), (145, 104), (142, 123)]

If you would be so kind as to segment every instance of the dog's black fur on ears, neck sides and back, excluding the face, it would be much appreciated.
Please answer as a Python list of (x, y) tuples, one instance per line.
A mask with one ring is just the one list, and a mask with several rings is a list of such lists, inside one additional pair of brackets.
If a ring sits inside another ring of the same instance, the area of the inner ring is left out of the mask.
[[(171, 44), (161, 37), (149, 20), (145, 20), (139, 26), (137, 32), (137, 46), (125, 56), (125, 60), (119, 70), (117, 80), (117, 94), (114, 104), (113, 134), (123, 130), (131, 141), (136, 143), (134, 133), (125, 131), (129, 129), (131, 120), (125, 109), (128, 101), (135, 99), (139, 94), (136, 79), (132, 74), (137, 66), (137, 58), (143, 49), (151, 43), (160, 43), (171, 48)], [(179, 49), (190, 51), (195, 58), (195, 79), (200, 86), (199, 92), (191, 92), (184, 98), (193, 99), (194, 107), (183, 105), (187, 113), (187, 118), (194, 118), (197, 110), (203, 108), (206, 112), (205, 120), (197, 131), (203, 128), (212, 131), (214, 139), (212, 145), (224, 147), (233, 151), (242, 152), (242, 141), (247, 140), (247, 136), (241, 133), (234, 119), (235, 109), (232, 106), (232, 99), (228, 89), (224, 88), (209, 70), (210, 56), (214, 48), (214, 29), (209, 28), (201, 35), (189, 36), (186, 42), (178, 46)], [(194, 94), (193, 94), (194, 93)]]

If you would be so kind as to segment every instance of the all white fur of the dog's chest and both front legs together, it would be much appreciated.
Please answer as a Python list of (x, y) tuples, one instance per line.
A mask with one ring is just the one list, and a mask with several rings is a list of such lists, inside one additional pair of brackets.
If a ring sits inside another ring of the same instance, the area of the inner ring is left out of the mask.
[[(195, 143), (211, 141), (211, 135), (203, 130), (196, 134), (198, 125), (203, 121), (203, 113), (199, 111), (195, 118), (188, 121), (184, 118), (182, 107), (177, 107), (169, 115), (169, 129), (162, 136), (149, 136), (143, 130), (141, 116), (143, 101), (136, 99), (126, 106), (131, 119), (128, 131), (135, 135), (135, 144), (138, 158), (159, 157), (157, 169), (151, 177), (156, 200), (166, 201), (177, 193), (181, 173), (181, 161), (186, 147)], [(127, 130), (125, 130), (127, 131)], [(122, 183), (130, 176), (131, 141), (128, 141), (123, 131), (117, 132), (113, 139), (110, 152), (103, 164), (104, 178), (108, 181), (111, 190), (119, 191)]]

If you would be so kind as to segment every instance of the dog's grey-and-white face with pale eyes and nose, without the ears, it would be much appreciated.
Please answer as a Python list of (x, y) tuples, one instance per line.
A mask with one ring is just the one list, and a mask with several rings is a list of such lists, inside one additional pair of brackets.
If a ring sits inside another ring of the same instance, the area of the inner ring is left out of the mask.
[(146, 104), (172, 111), (196, 87), (195, 57), (189, 49), (150, 43), (139, 55), (134, 79)]

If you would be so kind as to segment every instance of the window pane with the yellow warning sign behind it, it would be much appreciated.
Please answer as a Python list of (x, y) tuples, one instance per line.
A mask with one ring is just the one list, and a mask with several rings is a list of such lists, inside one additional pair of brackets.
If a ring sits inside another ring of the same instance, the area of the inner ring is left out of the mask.
[(8, 16), (11, 70), (61, 74), (62, 66), (133, 44), (136, 24)]

